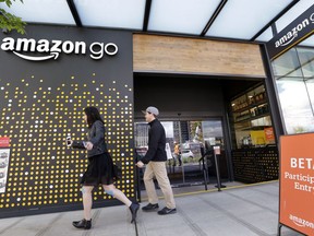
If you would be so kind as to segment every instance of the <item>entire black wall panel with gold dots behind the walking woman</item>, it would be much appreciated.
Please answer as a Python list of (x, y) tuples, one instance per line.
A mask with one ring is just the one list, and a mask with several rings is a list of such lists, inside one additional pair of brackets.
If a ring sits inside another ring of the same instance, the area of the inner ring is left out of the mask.
[[(3, 47), (7, 37), (34, 38), (37, 43), (47, 39), (50, 45), (52, 40), (84, 42), (88, 46), (98, 42), (113, 43), (119, 50), (114, 56), (104, 54), (99, 60), (90, 58), (87, 48), (86, 54), (61, 51), (56, 60), (31, 61), (0, 49), (0, 138), (10, 138), (10, 148), (1, 149), (3, 153), (9, 150), (10, 155), (5, 177), (0, 179), (0, 215), (81, 208), (78, 180), (87, 160), (84, 151), (67, 148), (64, 140), (68, 135), (85, 139), (86, 106), (98, 107), (106, 121), (110, 153), (123, 170), (117, 187), (135, 198), (132, 34), (38, 25), (26, 30), (26, 35), (1, 34), (0, 44)], [(117, 203), (100, 188), (95, 189), (94, 200), (95, 205)]]

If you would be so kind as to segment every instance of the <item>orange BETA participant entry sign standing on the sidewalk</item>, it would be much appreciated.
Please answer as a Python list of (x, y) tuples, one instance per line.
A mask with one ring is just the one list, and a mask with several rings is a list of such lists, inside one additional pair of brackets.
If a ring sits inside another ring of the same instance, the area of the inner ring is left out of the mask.
[(280, 137), (279, 227), (314, 235), (314, 133)]

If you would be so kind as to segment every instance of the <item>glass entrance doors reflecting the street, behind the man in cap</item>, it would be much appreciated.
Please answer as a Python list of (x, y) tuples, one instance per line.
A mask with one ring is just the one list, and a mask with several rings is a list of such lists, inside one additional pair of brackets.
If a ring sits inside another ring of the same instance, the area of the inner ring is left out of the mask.
[[(173, 188), (205, 185), (204, 169), (207, 173), (206, 184), (216, 182), (216, 168), (210, 150), (217, 145), (221, 150), (221, 155), (219, 155), (220, 176), (222, 179), (228, 178), (221, 119), (169, 119), (162, 120), (161, 125), (166, 130), (167, 172)], [(135, 150), (138, 160), (147, 151), (147, 141), (148, 125), (141, 121), (135, 122)], [(205, 162), (203, 162), (204, 160)], [(140, 172), (141, 189), (144, 188), (144, 170)]]

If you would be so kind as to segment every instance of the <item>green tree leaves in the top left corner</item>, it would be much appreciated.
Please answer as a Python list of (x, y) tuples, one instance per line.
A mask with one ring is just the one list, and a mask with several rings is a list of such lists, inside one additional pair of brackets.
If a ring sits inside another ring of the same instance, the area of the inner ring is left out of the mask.
[[(13, 0), (15, 1), (15, 0)], [(23, 0), (19, 0), (23, 3)], [(4, 2), (9, 8), (12, 5), (12, 0), (0, 0), (0, 3)], [(21, 17), (10, 14), (0, 7), (0, 28), (3, 31), (16, 31), (20, 34), (25, 34), (26, 23)]]

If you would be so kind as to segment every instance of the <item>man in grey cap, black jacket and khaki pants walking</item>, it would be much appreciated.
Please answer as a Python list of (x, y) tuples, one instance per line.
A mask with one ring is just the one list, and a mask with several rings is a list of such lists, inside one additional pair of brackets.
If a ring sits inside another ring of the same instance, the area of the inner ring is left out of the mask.
[(154, 185), (154, 177), (156, 177), (166, 201), (166, 206), (158, 211), (158, 214), (173, 214), (177, 210), (166, 168), (166, 132), (157, 119), (159, 111), (156, 107), (149, 106), (146, 110), (143, 110), (143, 113), (150, 129), (148, 132), (148, 151), (146, 155), (136, 163), (140, 168), (143, 168), (144, 164), (146, 164), (144, 184), (148, 196), (148, 204), (143, 206), (142, 210), (154, 211), (159, 208), (158, 196)]

